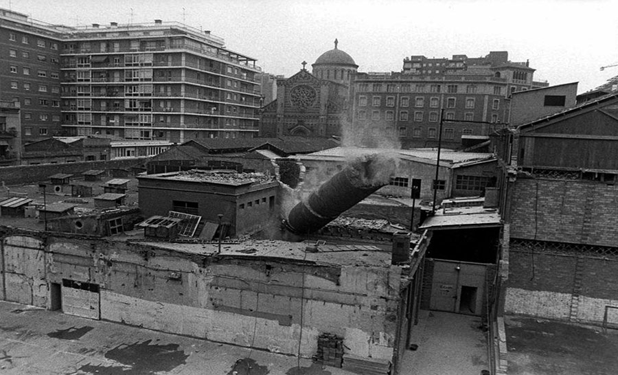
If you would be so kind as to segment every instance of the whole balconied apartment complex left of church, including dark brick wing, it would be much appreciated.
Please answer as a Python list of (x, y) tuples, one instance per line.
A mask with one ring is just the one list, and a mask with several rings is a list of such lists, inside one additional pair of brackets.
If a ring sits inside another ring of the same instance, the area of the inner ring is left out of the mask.
[(25, 139), (181, 142), (258, 133), (260, 68), (209, 31), (161, 20), (65, 27), (8, 10), (0, 21), (2, 61), (15, 61), (3, 64), (1, 98), (21, 102)]

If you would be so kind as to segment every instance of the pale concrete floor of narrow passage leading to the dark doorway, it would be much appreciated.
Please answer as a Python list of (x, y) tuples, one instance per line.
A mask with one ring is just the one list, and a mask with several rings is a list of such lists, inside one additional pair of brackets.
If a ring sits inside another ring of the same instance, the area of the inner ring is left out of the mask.
[(402, 374), (479, 375), (489, 370), (480, 327), (481, 317), (421, 310), (410, 341), (418, 348), (404, 353)]

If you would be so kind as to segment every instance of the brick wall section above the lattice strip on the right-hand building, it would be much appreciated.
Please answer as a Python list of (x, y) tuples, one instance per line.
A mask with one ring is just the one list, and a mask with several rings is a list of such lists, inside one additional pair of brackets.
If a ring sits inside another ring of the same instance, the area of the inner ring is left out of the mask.
[(616, 246), (616, 185), (518, 178), (511, 197), (514, 238)]

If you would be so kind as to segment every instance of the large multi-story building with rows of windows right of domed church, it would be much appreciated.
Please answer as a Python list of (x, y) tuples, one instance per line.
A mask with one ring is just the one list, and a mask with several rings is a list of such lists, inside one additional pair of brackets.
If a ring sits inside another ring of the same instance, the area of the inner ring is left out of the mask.
[(533, 73), (528, 62), (510, 62), (507, 52), (411, 56), (400, 73), (356, 74), (354, 127), (365, 130), (369, 145), (391, 139), (403, 148), (431, 147), (444, 111), (442, 144), (457, 148), (462, 136), (488, 135), (492, 124), (507, 122), (511, 93), (548, 85), (534, 82)]

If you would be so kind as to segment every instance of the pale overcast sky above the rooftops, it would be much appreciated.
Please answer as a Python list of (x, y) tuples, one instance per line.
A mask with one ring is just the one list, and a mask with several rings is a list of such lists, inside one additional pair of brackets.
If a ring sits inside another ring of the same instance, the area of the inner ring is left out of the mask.
[[(580, 93), (618, 76), (615, 0), (0, 0), (49, 23), (179, 21), (211, 30), (265, 71), (291, 76), (333, 48), (359, 71), (400, 71), (406, 56), (530, 60), (535, 80), (580, 82)], [(131, 16), (133, 8), (133, 17)], [(184, 9), (184, 10), (183, 10)]]

